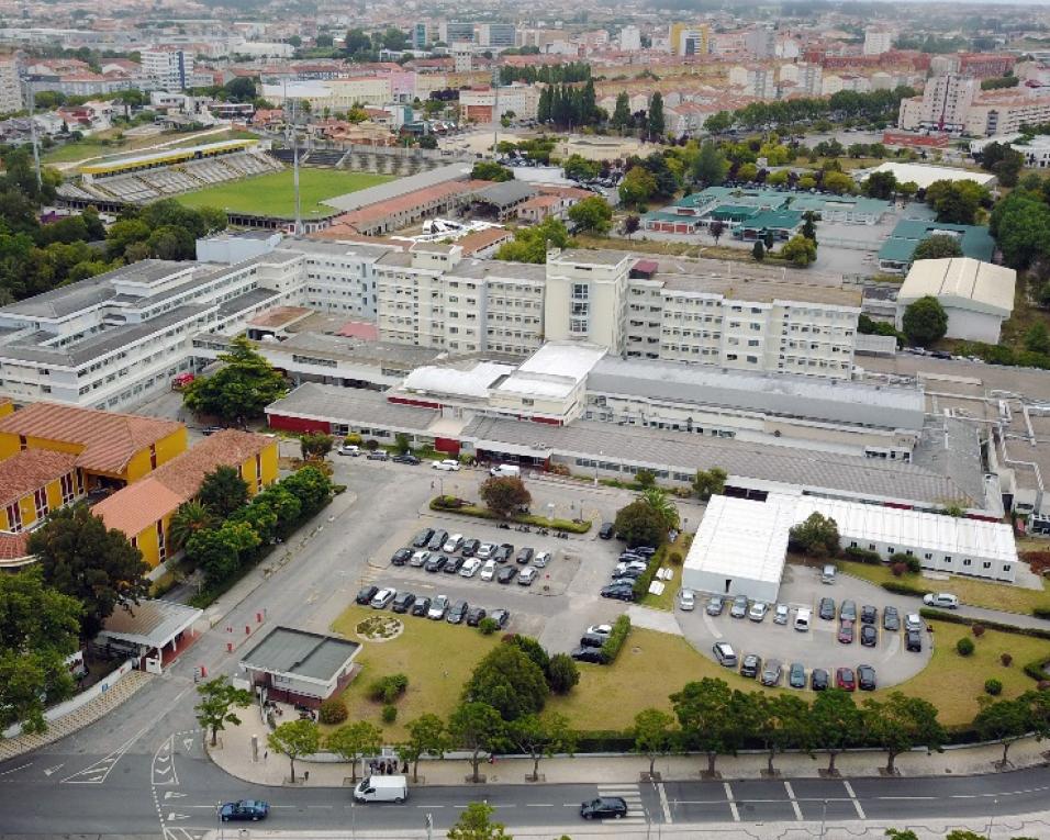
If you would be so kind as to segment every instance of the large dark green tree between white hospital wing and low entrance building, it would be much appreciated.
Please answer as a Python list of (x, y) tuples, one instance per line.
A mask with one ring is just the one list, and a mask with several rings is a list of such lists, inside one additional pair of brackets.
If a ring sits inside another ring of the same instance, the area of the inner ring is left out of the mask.
[(284, 378), (244, 336), (234, 338), (219, 359), (224, 362), (221, 370), (198, 377), (182, 392), (190, 411), (242, 421), (261, 416), (267, 405), (284, 395)]

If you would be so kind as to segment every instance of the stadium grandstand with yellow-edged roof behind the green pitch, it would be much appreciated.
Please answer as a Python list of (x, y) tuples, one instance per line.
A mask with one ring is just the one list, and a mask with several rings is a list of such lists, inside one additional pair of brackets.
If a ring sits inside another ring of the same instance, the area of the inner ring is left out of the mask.
[(262, 154), (258, 141), (225, 141), (83, 166), (80, 182), (62, 184), (58, 197), (75, 206), (145, 204), (281, 169), (279, 160)]

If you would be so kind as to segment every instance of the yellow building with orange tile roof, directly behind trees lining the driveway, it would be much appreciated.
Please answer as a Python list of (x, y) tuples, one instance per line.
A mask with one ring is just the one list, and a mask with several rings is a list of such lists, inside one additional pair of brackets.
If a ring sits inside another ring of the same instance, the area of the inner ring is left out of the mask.
[(277, 480), (277, 438), (224, 429), (205, 438), (134, 484), (92, 508), (109, 528), (123, 531), (143, 559), (156, 568), (175, 556), (168, 534), (171, 516), (192, 500), (217, 467), (234, 467), (255, 495)]

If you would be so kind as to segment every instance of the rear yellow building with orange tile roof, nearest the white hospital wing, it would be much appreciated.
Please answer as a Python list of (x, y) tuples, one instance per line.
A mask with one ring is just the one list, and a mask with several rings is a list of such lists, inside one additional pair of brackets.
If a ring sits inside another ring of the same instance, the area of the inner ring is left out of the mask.
[(0, 416), (0, 461), (33, 449), (75, 455), (85, 490), (122, 488), (186, 451), (186, 427), (56, 403)]

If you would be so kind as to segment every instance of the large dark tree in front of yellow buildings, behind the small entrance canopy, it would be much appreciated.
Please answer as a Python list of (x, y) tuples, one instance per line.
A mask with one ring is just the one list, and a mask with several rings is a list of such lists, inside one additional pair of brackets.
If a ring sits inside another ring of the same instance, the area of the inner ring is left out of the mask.
[(142, 552), (87, 504), (53, 512), (30, 535), (29, 552), (40, 558), (45, 584), (83, 605), (85, 639), (93, 639), (116, 607), (131, 609), (149, 593)]

